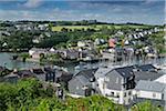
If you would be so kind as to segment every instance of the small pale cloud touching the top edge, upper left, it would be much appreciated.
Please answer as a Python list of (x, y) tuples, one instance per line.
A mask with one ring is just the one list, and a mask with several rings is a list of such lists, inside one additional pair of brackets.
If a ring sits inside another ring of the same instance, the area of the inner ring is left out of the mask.
[(42, 0), (28, 0), (23, 6), (27, 8), (38, 8), (42, 4)]

